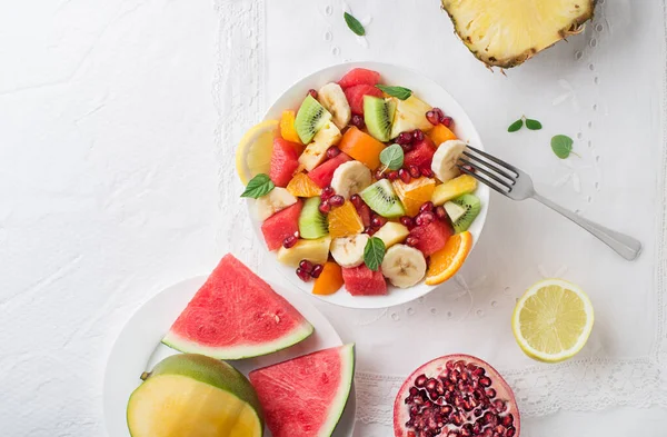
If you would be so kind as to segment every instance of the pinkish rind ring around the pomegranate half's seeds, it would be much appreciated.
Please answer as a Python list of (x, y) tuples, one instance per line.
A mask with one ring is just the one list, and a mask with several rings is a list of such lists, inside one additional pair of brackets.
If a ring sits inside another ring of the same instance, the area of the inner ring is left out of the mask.
[[(512, 426), (516, 428), (516, 434), (514, 437), (519, 437), (521, 431), (521, 417), (519, 414), (519, 408), (517, 406), (517, 401), (514, 395), (514, 391), (491, 365), (487, 361), (474, 357), (471, 355), (465, 354), (455, 354), (455, 355), (445, 355), (442, 357), (432, 359), (421, 367), (417, 368), (408, 378), (404, 381), (396, 395), (396, 399), (394, 400), (394, 436), (395, 437), (408, 437), (408, 429), (406, 429), (406, 421), (410, 419), (410, 414), (405, 404), (405, 398), (409, 395), (410, 387), (414, 386), (415, 378), (419, 375), (426, 375), (427, 377), (435, 377), (440, 375), (447, 366), (447, 361), (458, 361), (464, 360), (466, 362), (472, 362), (478, 367), (484, 367), (486, 370), (486, 376), (491, 378), (492, 385), (491, 387), (497, 393), (497, 398), (506, 399), (508, 403), (507, 413), (511, 413), (514, 415), (514, 424)], [(447, 434), (442, 433), (442, 437), (446, 437)]]

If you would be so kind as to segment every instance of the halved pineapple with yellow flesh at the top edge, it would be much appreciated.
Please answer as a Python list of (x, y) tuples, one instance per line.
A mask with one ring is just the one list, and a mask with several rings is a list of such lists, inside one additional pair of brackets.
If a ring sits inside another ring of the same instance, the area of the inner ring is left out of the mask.
[(442, 0), (456, 33), (491, 67), (516, 67), (593, 18), (597, 0)]

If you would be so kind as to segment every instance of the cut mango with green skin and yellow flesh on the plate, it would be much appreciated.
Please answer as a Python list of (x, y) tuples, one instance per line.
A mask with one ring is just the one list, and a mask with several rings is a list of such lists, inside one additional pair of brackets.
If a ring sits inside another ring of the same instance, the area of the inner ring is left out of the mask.
[(132, 437), (263, 435), (255, 388), (237, 369), (203, 355), (165, 358), (128, 401)]

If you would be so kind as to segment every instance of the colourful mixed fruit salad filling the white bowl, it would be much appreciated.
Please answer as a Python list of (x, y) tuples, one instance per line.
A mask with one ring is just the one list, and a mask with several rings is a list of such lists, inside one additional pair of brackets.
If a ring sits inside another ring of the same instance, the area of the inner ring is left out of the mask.
[(455, 120), (427, 97), (356, 68), (242, 141), (242, 196), (268, 249), (313, 294), (437, 285), (465, 261), (477, 180), (457, 163)]

